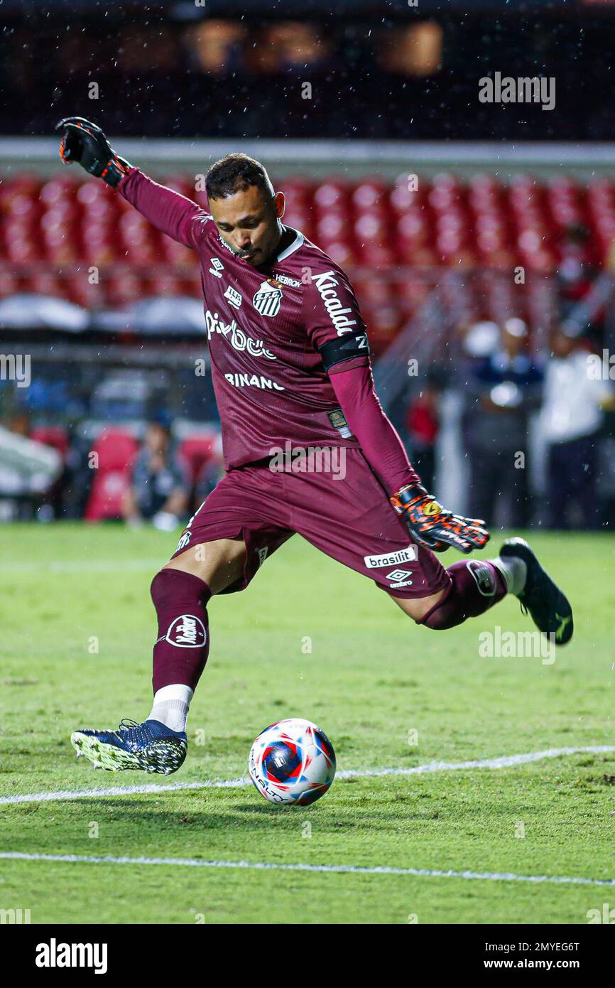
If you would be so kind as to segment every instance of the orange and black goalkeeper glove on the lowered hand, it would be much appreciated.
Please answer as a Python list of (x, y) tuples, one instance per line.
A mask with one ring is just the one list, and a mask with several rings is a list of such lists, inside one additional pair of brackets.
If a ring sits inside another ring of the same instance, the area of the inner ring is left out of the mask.
[(422, 484), (400, 487), (391, 504), (403, 516), (415, 541), (432, 552), (445, 552), (452, 545), (467, 553), (482, 549), (489, 541), (485, 522), (446, 511)]

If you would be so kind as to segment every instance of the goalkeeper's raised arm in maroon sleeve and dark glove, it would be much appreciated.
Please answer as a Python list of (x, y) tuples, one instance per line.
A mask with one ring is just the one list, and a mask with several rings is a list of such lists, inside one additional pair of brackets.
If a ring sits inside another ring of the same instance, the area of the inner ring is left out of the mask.
[(55, 127), (63, 130), (60, 158), (66, 165), (77, 161), (82, 168), (118, 193), (138, 209), (163, 233), (186, 247), (194, 247), (200, 221), (207, 213), (172, 189), (158, 185), (119, 157), (96, 124), (83, 117), (66, 117)]

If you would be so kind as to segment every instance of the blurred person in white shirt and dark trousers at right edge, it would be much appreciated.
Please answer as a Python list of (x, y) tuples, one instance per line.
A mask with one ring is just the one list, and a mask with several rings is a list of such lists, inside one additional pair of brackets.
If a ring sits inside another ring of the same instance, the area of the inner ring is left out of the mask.
[(589, 350), (579, 337), (557, 331), (545, 373), (542, 426), (548, 443), (549, 526), (584, 529), (601, 524), (596, 491), (598, 440), (603, 409), (612, 405), (612, 385), (589, 373)]

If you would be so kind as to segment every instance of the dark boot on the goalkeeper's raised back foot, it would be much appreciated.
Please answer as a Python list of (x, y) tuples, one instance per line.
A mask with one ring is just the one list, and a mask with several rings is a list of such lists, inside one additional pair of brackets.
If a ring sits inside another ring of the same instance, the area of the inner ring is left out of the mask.
[(541, 631), (554, 635), (556, 645), (566, 645), (573, 637), (573, 609), (568, 598), (542, 568), (524, 538), (506, 538), (500, 556), (516, 556), (527, 566), (525, 587), (518, 595), (522, 610), (529, 611)]

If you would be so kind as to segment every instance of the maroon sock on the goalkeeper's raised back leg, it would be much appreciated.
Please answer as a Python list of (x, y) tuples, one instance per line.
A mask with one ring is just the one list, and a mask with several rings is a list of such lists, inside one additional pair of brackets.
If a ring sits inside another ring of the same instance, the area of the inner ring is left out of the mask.
[(507, 593), (506, 581), (493, 562), (461, 560), (447, 570), (452, 582), (446, 595), (417, 623), (443, 631), (466, 617), (484, 614)]

